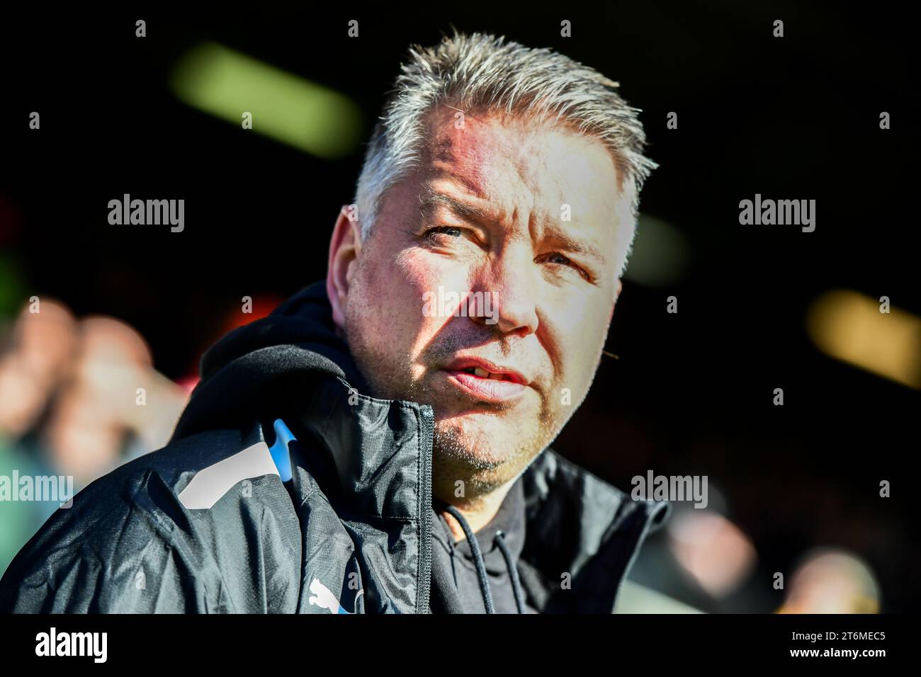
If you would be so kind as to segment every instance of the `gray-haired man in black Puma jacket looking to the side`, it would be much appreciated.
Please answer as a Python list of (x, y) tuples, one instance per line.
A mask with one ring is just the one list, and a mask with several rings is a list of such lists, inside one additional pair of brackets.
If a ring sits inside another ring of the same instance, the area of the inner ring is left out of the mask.
[(611, 613), (666, 505), (547, 445), (655, 167), (616, 88), (488, 35), (412, 50), (325, 282), (204, 356), (169, 445), (58, 510), (0, 609)]

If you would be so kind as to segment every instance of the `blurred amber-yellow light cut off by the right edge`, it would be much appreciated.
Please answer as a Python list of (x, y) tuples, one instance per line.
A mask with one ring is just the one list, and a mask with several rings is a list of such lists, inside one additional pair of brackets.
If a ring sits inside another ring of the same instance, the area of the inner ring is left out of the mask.
[(880, 302), (835, 290), (809, 310), (806, 329), (823, 353), (909, 388), (921, 389), (921, 318), (880, 312)]

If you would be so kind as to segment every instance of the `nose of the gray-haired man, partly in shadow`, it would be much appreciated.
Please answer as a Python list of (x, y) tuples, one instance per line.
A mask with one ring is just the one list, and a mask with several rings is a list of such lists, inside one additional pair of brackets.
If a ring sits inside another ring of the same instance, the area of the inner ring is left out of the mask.
[[(530, 243), (529, 243), (530, 244)], [(517, 251), (506, 248), (493, 261), (486, 264), (477, 275), (472, 305), (479, 305), (470, 313), (473, 321), (494, 327), (497, 332), (517, 333), (527, 336), (537, 331), (537, 294), (539, 280), (529, 247)]]

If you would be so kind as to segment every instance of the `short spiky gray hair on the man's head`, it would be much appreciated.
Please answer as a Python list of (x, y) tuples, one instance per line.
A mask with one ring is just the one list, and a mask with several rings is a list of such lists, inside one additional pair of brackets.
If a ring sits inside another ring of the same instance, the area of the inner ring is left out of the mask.
[(461, 110), (506, 111), (537, 118), (555, 115), (577, 132), (598, 138), (612, 153), (621, 181), (639, 192), (658, 165), (644, 157), (639, 109), (617, 93), (620, 84), (550, 49), (530, 49), (505, 37), (455, 30), (436, 47), (413, 45), (368, 142), (355, 204), (362, 239), (379, 216), (384, 194), (418, 167), (426, 116), (439, 104)]

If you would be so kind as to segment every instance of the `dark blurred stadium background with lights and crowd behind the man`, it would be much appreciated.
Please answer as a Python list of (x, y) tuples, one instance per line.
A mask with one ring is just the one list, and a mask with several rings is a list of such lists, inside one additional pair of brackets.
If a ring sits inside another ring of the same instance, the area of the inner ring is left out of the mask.
[[(560, 35), (564, 19), (572, 37)], [(783, 38), (772, 35), (775, 19)], [(918, 63), (915, 25), (890, 7), (441, 3), (7, 16), (6, 467), (79, 470), (84, 449), (109, 440), (111, 451), (80, 471), (87, 482), (162, 444), (204, 350), (325, 275), (333, 222), (353, 201), (402, 55), (452, 27), (553, 47), (618, 80), (643, 110), (660, 165), (642, 195), (607, 344), (618, 358), (604, 358), (554, 444), (625, 490), (650, 469), (708, 476), (709, 507), (679, 510), (656, 535), (624, 611), (914, 609)], [(298, 119), (310, 105), (328, 114)], [(40, 130), (29, 129), (31, 111)], [(241, 111), (253, 111), (253, 130), (241, 129)], [(677, 129), (666, 127), (670, 111)], [(882, 111), (891, 129), (880, 129)], [(262, 134), (274, 117), (277, 132)], [(107, 204), (123, 193), (184, 199), (184, 231), (109, 225)], [(739, 202), (755, 193), (816, 200), (815, 231), (740, 226)], [(56, 313), (47, 331), (25, 327), (32, 296)], [(245, 296), (254, 312), (243, 316)], [(891, 314), (878, 311), (882, 296)], [(61, 355), (30, 349), (33, 334)], [(151, 379), (149, 420), (105, 403), (117, 380), (106, 369)], [(106, 430), (87, 432), (100, 408)], [(882, 480), (891, 497), (880, 497)], [(2, 572), (47, 511), (0, 510)], [(774, 588), (775, 572), (785, 589)]]

